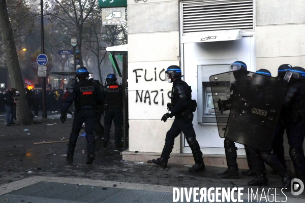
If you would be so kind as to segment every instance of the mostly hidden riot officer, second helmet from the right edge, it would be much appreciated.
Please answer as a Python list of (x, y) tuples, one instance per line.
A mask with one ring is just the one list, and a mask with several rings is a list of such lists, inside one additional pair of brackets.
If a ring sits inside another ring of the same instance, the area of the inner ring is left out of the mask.
[[(284, 79), (287, 71), (290, 70), (291, 67), (292, 66), (290, 64), (280, 65), (278, 68), (278, 76), (276, 78)], [(273, 141), (272, 153), (275, 154), (280, 159), (284, 167), (287, 168), (285, 161), (285, 151), (284, 151), (284, 132), (285, 132), (285, 125), (284, 122), (280, 119), (275, 130), (275, 139)]]

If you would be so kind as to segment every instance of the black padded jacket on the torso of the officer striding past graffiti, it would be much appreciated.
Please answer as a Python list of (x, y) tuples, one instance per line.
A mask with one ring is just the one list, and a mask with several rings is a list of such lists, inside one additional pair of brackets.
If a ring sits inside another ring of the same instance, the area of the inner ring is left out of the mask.
[(173, 81), (171, 92), (171, 104), (173, 106), (170, 112), (175, 116), (181, 115), (187, 108), (191, 108), (191, 87), (181, 78)]

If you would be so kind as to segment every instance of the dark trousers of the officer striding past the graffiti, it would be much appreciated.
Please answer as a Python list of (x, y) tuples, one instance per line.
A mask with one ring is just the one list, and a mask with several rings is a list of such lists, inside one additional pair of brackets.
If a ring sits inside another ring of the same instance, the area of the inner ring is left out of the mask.
[(184, 133), (186, 138), (192, 137), (192, 138), (196, 139), (196, 134), (195, 134), (195, 130), (194, 130), (192, 121), (186, 122), (181, 117), (175, 117), (175, 120), (174, 120), (172, 126), (166, 133), (165, 145), (164, 145), (161, 157), (163, 157), (165, 159), (169, 159), (169, 155), (172, 152), (172, 149), (174, 148), (175, 138), (179, 135), (179, 133), (181, 131)]

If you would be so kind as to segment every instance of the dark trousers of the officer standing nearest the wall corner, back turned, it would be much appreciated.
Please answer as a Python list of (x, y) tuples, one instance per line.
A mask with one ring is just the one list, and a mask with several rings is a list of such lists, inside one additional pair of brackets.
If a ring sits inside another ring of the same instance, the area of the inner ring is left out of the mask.
[(104, 116), (104, 138), (109, 139), (112, 120), (115, 126), (115, 143), (120, 144), (123, 134), (123, 111), (122, 109), (107, 109)]

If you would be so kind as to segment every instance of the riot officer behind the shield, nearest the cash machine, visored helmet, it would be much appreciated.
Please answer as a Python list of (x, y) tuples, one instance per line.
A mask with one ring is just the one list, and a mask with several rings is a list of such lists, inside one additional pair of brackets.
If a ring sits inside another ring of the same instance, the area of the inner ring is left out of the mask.
[[(239, 70), (242, 70), (239, 74)], [(243, 81), (247, 83), (247, 87), (249, 84), (251, 84), (251, 77), (247, 76), (247, 64), (243, 61), (235, 61), (230, 66), (230, 71), (233, 72), (233, 75), (235, 79), (237, 80), (238, 77), (240, 77), (240, 81)], [(231, 84), (230, 91), (233, 92), (236, 84), (235, 82)], [(239, 178), (239, 172), (238, 172), (238, 164), (237, 164), (237, 147), (235, 146), (235, 143), (225, 139), (224, 140), (224, 147), (225, 147), (225, 154), (226, 154), (226, 160), (227, 160), (227, 170), (218, 176), (220, 178), (226, 179), (226, 178)], [(248, 161), (249, 170), (246, 172), (241, 172), (242, 175), (245, 176), (252, 176), (254, 175), (254, 171), (252, 170), (252, 164), (251, 164), (251, 158), (250, 158), (250, 148), (249, 146), (245, 145), (245, 151), (246, 151), (246, 157)]]

